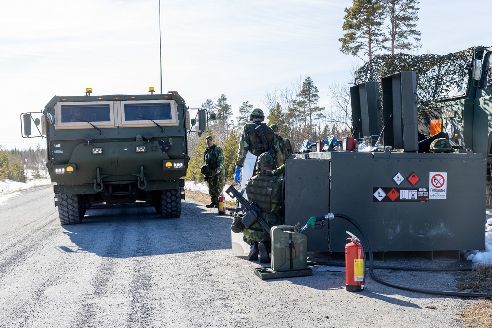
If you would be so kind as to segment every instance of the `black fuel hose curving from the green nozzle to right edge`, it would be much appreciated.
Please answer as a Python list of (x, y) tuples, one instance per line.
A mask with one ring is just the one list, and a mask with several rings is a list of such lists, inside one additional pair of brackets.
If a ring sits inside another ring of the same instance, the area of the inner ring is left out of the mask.
[[(369, 274), (370, 274), (370, 277), (373, 280), (375, 280), (376, 282), (379, 282), (380, 284), (383, 284), (383, 285), (386, 285), (386, 286), (390, 286), (390, 287), (394, 287), (394, 288), (398, 288), (398, 289), (402, 289), (402, 290), (406, 290), (406, 291), (411, 291), (411, 292), (417, 292), (417, 293), (425, 293), (425, 294), (433, 294), (433, 295), (444, 295), (444, 296), (457, 296), (457, 297), (492, 298), (492, 294), (469, 293), (469, 292), (453, 292), (453, 291), (437, 291), (437, 290), (432, 290), (432, 289), (414, 288), (414, 287), (409, 287), (409, 286), (404, 286), (404, 285), (400, 285), (400, 284), (395, 284), (395, 283), (392, 283), (392, 282), (387, 282), (387, 281), (384, 281), (382, 279), (379, 279), (374, 274), (374, 257), (372, 255), (372, 248), (370, 246), (368, 237), (367, 237), (366, 233), (364, 232), (364, 230), (362, 230), (361, 226), (357, 222), (355, 222), (354, 220), (352, 220), (347, 215), (344, 215), (344, 214), (333, 214), (333, 218), (335, 218), (335, 217), (338, 217), (338, 218), (347, 220), (348, 222), (352, 223), (352, 225), (354, 225), (357, 228), (357, 230), (359, 230), (359, 232), (361, 233), (362, 238), (366, 242), (366, 245), (367, 245), (367, 248), (368, 248), (367, 249), (367, 252), (369, 253)], [(330, 218), (330, 219), (332, 219), (332, 218)], [(361, 243), (361, 245), (362, 245), (362, 243)], [(366, 252), (366, 250), (364, 250), (364, 246), (363, 246), (363, 251)], [(366, 261), (364, 261), (364, 264), (365, 263), (366, 263)], [(366, 279), (366, 268), (364, 268), (364, 278), (363, 278), (363, 280), (365, 280), (365, 279)], [(364, 285), (364, 282), (363, 282), (363, 285)]]

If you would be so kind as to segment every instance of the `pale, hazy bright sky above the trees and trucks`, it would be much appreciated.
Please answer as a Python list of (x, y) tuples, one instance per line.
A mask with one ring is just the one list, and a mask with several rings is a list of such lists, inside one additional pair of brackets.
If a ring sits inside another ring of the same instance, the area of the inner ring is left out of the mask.
[[(0, 144), (23, 139), (19, 115), (41, 111), (55, 95), (160, 92), (158, 0), (4, 1), (0, 20)], [(347, 82), (357, 58), (340, 53), (351, 0), (161, 0), (163, 91), (190, 108), (225, 94), (235, 116), (266, 92), (310, 76), (319, 105), (328, 86)], [(422, 1), (420, 53), (492, 45), (488, 1)], [(475, 29), (475, 30), (472, 30)]]

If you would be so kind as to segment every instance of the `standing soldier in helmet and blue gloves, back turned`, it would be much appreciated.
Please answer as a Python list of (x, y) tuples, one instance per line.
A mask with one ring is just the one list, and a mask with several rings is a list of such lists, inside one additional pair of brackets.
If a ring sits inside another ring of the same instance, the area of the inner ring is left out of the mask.
[[(267, 124), (263, 123), (263, 120), (265, 119), (263, 111), (259, 108), (255, 108), (251, 112), (249, 119), (251, 120), (251, 123), (247, 123), (243, 127), (243, 134), (241, 135), (241, 141), (239, 142), (238, 158), (236, 161), (236, 170), (234, 172), (234, 179), (237, 183), (241, 183), (241, 171), (248, 151), (255, 156), (259, 156), (272, 149), (276, 160), (276, 164), (274, 165), (282, 165), (282, 151), (278, 145), (278, 141), (275, 139), (274, 131)], [(268, 145), (263, 145), (260, 136), (254, 130), (257, 126), (261, 126), (265, 139), (269, 143)], [(253, 170), (253, 175), (255, 174), (256, 168)]]

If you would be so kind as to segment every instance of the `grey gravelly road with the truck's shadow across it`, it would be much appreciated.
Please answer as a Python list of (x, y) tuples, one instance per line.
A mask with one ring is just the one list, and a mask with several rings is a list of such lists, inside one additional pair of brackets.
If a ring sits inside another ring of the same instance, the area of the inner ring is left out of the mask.
[[(62, 227), (51, 186), (10, 196), (0, 194), (0, 327), (449, 328), (465, 327), (459, 313), (475, 301), (370, 277), (351, 293), (341, 272), (262, 280), (259, 262), (232, 254), (230, 217), (191, 199), (179, 219), (144, 203), (100, 205)], [(378, 275), (456, 290), (456, 273)]]

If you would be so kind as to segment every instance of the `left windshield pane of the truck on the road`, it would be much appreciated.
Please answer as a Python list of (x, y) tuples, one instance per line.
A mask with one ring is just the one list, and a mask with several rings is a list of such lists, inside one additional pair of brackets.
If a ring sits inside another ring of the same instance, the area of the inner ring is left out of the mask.
[(62, 105), (62, 123), (67, 122), (109, 122), (108, 104), (98, 105)]

